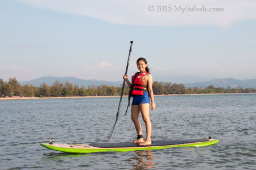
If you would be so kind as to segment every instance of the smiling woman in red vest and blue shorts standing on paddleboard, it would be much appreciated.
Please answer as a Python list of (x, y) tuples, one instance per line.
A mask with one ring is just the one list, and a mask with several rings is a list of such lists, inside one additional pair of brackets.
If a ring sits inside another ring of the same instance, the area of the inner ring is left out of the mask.
[[(130, 96), (133, 97), (133, 103), (131, 103), (131, 120), (134, 122), (135, 129), (138, 134), (137, 140), (133, 143), (139, 143), (139, 145), (151, 145), (151, 122), (149, 116), (149, 108), (151, 111), (155, 109), (154, 94), (152, 90), (153, 79), (147, 67), (147, 61), (145, 58), (137, 59), (138, 73), (132, 76), (132, 82), (130, 83), (127, 75), (123, 76), (127, 85), (130, 88)], [(150, 99), (151, 106), (150, 106)], [(150, 106), (150, 107), (149, 107)], [(142, 114), (143, 121), (146, 124), (147, 139), (143, 140), (141, 122), (139, 122), (139, 112)]]

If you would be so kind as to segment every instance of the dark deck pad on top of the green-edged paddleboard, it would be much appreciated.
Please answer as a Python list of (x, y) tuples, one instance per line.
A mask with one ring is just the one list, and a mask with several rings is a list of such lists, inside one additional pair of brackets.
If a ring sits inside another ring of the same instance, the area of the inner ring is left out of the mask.
[[(168, 141), (151, 141), (151, 146), (167, 146), (167, 145), (180, 145), (185, 143), (195, 142), (208, 142), (209, 139), (179, 139)], [(118, 148), (118, 147), (138, 147), (137, 143), (119, 142), (119, 143), (89, 143), (90, 146), (101, 148)], [(141, 146), (139, 146), (141, 147)]]

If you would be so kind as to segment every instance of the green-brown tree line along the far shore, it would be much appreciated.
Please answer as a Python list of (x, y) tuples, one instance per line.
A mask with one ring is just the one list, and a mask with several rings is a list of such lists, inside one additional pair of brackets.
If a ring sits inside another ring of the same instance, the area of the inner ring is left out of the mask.
[[(88, 86), (79, 87), (77, 84), (60, 83), (56, 80), (53, 84), (42, 83), (40, 87), (32, 84), (21, 85), (16, 78), (10, 78), (4, 82), (0, 79), (1, 97), (73, 97), (73, 96), (118, 96), (121, 95), (122, 84), (120, 87), (107, 86)], [(153, 82), (154, 95), (192, 95), (192, 94), (237, 94), (255, 93), (256, 88), (222, 88), (209, 86), (206, 88), (189, 87), (184, 84), (171, 82)], [(125, 86), (123, 95), (129, 94), (129, 87)]]

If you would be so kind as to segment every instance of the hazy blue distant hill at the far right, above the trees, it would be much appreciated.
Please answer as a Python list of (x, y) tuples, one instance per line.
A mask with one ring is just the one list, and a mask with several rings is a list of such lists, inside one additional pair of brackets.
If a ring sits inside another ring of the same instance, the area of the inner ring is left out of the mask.
[(200, 87), (205, 88), (210, 85), (214, 87), (223, 87), (228, 88), (229, 86), (231, 88), (256, 88), (256, 79), (247, 79), (247, 80), (237, 80), (234, 78), (226, 78), (226, 79), (213, 79), (209, 82), (197, 82), (197, 83), (185, 83), (184, 84), (186, 88), (188, 87)]

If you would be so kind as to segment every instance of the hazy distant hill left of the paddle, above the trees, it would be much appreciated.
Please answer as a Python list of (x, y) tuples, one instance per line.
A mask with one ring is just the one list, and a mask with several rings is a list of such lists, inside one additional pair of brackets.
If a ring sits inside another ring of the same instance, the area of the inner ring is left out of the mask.
[(108, 82), (108, 81), (104, 81), (104, 80), (84, 80), (84, 79), (78, 79), (78, 78), (74, 78), (73, 76), (65, 76), (63, 78), (59, 78), (56, 76), (42, 76), (41, 78), (38, 79), (34, 79), (34, 80), (30, 80), (30, 81), (21, 81), (19, 82), (20, 84), (24, 85), (24, 84), (32, 84), (32, 86), (37, 86), (39, 87), (40, 84), (42, 83), (47, 83), (48, 85), (52, 85), (55, 80), (59, 80), (59, 82), (64, 83), (66, 81), (68, 81), (69, 83), (73, 83), (75, 85), (75, 83), (77, 83), (79, 86), (92, 86), (94, 84), (94, 86), (100, 86), (101, 84), (106, 84), (108, 86), (115, 86), (115, 87), (119, 87), (122, 85), (122, 81), (119, 82)]

